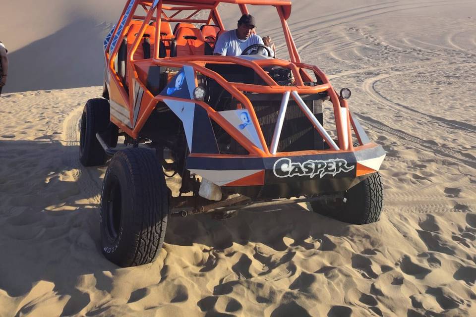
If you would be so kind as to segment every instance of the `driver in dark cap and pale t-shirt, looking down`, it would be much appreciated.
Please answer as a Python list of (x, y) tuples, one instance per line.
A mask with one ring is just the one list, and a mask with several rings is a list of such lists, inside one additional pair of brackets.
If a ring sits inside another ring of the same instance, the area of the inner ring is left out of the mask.
[(238, 20), (238, 28), (223, 33), (215, 44), (214, 55), (239, 56), (247, 47), (264, 45), (259, 35), (253, 33), (256, 23), (250, 14), (243, 14)]

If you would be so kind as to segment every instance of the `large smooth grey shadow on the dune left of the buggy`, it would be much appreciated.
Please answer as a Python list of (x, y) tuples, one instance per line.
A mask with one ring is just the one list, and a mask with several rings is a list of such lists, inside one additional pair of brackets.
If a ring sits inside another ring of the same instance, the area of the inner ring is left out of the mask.
[(81, 19), (9, 53), (10, 71), (3, 93), (101, 86), (103, 42), (111, 27)]

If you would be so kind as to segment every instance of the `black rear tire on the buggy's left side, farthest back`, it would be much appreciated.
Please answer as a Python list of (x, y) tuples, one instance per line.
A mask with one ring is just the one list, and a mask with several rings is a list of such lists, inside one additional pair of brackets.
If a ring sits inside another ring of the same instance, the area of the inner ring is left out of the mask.
[(106, 153), (96, 133), (107, 130), (109, 122), (109, 102), (101, 98), (88, 100), (81, 116), (79, 136), (79, 160), (84, 166), (103, 165), (106, 162)]

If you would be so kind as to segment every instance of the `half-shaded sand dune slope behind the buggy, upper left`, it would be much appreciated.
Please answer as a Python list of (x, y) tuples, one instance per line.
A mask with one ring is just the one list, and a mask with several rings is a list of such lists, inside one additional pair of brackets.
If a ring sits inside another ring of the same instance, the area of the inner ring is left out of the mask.
[(102, 43), (123, 3), (3, 2), (0, 41), (8, 49), (12, 70), (3, 92), (102, 85)]

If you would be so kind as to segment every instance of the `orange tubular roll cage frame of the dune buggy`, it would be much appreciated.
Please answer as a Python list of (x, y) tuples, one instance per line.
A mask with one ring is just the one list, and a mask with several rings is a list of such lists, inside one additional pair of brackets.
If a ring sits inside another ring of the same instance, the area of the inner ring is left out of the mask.
[[(242, 14), (248, 14), (247, 5), (272, 5), (275, 6), (278, 12), (278, 16), (281, 21), (281, 25), (283, 28), (284, 36), (286, 39), (288, 52), (290, 56), (290, 61), (282, 60), (282, 59), (263, 59), (263, 60), (245, 60), (239, 57), (232, 57), (232, 56), (213, 56), (213, 55), (190, 55), (190, 56), (180, 56), (180, 57), (159, 57), (159, 45), (160, 42), (160, 25), (161, 21), (167, 22), (188, 22), (188, 23), (215, 23), (218, 25), (222, 30), (224, 30), (224, 25), (220, 14), (218, 12), (217, 6), (221, 3), (234, 3), (238, 4), (240, 11)], [(132, 5), (132, 7), (130, 7)], [(147, 11), (146, 16), (139, 16), (135, 14), (129, 14), (127, 18), (124, 20), (126, 16), (127, 9), (130, 12), (135, 12), (138, 6), (142, 6), (144, 10)], [(192, 14), (188, 15), (186, 18), (176, 18), (179, 13), (183, 11), (193, 11)], [(200, 12), (201, 10), (210, 10), (207, 19), (194, 19), (193, 17)], [(171, 15), (167, 15), (166, 11), (176, 11)], [(132, 82), (131, 79), (136, 79), (142, 89), (145, 91), (147, 98), (150, 100), (148, 106), (141, 109), (138, 115), (137, 124), (132, 128), (124, 125), (120, 121), (113, 121), (115, 124), (119, 126), (120, 129), (125, 131), (130, 136), (137, 138), (140, 129), (144, 126), (147, 118), (154, 110), (154, 107), (157, 105), (158, 102), (163, 101), (164, 99), (168, 100), (176, 100), (182, 102), (190, 102), (190, 100), (180, 99), (180, 98), (172, 98), (166, 97), (164, 98), (161, 95), (153, 96), (144, 84), (139, 80), (137, 69), (140, 68), (141, 65), (150, 65), (154, 64), (157, 66), (167, 66), (167, 67), (183, 67), (183, 66), (191, 66), (193, 67), (195, 74), (196, 72), (200, 72), (201, 74), (210, 77), (217, 81), (224, 89), (226, 89), (232, 96), (234, 96), (249, 112), (250, 118), (256, 127), (259, 141), (262, 146), (262, 150), (257, 148), (253, 145), (249, 140), (243, 138), (240, 132), (231, 125), (227, 120), (225, 120), (217, 111), (215, 111), (211, 106), (207, 105), (204, 102), (196, 101), (193, 102), (199, 106), (202, 106), (210, 116), (212, 120), (220, 124), (225, 131), (227, 131), (230, 136), (238, 141), (238, 143), (243, 146), (248, 152), (250, 156), (259, 156), (259, 157), (267, 157), (273, 156), (270, 154), (268, 145), (266, 144), (265, 138), (260, 128), (260, 124), (258, 122), (258, 118), (254, 111), (254, 108), (249, 101), (249, 99), (243, 94), (243, 92), (253, 92), (253, 93), (267, 93), (267, 94), (284, 94), (286, 92), (296, 92), (297, 94), (316, 94), (320, 92), (327, 92), (330, 101), (333, 104), (334, 109), (334, 117), (336, 122), (336, 130), (337, 130), (337, 137), (338, 137), (338, 147), (337, 151), (352, 151), (352, 132), (351, 126), (354, 130), (354, 133), (357, 136), (357, 139), (360, 142), (360, 137), (358, 135), (357, 129), (354, 125), (354, 121), (352, 119), (351, 113), (349, 112), (349, 107), (346, 100), (341, 99), (332, 85), (330, 84), (327, 76), (317, 67), (313, 65), (308, 65), (302, 63), (299, 57), (299, 53), (297, 52), (296, 44), (294, 43), (293, 37), (291, 35), (287, 19), (291, 14), (291, 2), (286, 0), (155, 0), (155, 1), (143, 1), (143, 0), (128, 0), (122, 13), (120, 16), (119, 21), (122, 21), (124, 25), (128, 25), (132, 19), (139, 19), (143, 20), (142, 26), (138, 35), (136, 36), (135, 41), (133, 42), (131, 48), (127, 52), (127, 76), (129, 77), (129, 82)], [(154, 47), (154, 55), (152, 56), (152, 60), (134, 60), (133, 56), (135, 51), (137, 50), (141, 38), (144, 35), (146, 26), (150, 21), (157, 21), (157, 28), (155, 33), (155, 47)], [(112, 33), (111, 39), (116, 35), (118, 30), (120, 29), (118, 23)], [(126, 34), (126, 28), (121, 29), (121, 34), (119, 34), (119, 40), (123, 38)], [(115, 56), (118, 54), (119, 45), (114, 47), (113, 52), (110, 52), (111, 43), (113, 41), (109, 41), (109, 44), (105, 50), (105, 57), (108, 72), (111, 74), (110, 80), (114, 82), (116, 86), (119, 88), (122, 87), (123, 89), (119, 90), (118, 100), (119, 104), (122, 104), (127, 109), (130, 109), (130, 105), (133, 103), (133, 96), (130, 93), (125, 91), (125, 87), (122, 85), (119, 76), (114, 71), (114, 60)], [(229, 63), (229, 64), (237, 64), (242, 65), (245, 67), (249, 67), (255, 71), (255, 73), (261, 77), (267, 86), (258, 86), (252, 84), (244, 84), (244, 83), (233, 83), (227, 81), (225, 78), (220, 76), (218, 73), (208, 69), (205, 67), (206, 63)], [(264, 71), (263, 67), (266, 66), (281, 66), (285, 68), (289, 68), (294, 75), (295, 85), (294, 86), (280, 86), (278, 85), (270, 76), (269, 74)], [(304, 71), (305, 69), (311, 70), (314, 72), (315, 76), (320, 78), (322, 84), (317, 86), (306, 86), (305, 82), (310, 82), (312, 79), (310, 76)], [(113, 83), (111, 83), (112, 86)], [(129, 85), (132, 86), (132, 85)], [(132, 88), (129, 88), (132, 89)], [(295, 101), (298, 103), (297, 98), (294, 94), (291, 94)], [(130, 111), (130, 118), (132, 119), (132, 112)], [(306, 114), (308, 116), (308, 114)], [(312, 120), (311, 120), (312, 122)], [(319, 131), (319, 130), (318, 130)], [(327, 140), (326, 136), (319, 131), (321, 136), (324, 140), (331, 145), (329, 140)], [(331, 149), (332, 150), (332, 149)], [(276, 154), (276, 155), (279, 155)]]

